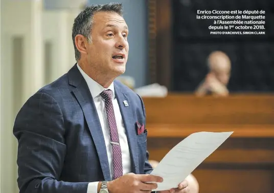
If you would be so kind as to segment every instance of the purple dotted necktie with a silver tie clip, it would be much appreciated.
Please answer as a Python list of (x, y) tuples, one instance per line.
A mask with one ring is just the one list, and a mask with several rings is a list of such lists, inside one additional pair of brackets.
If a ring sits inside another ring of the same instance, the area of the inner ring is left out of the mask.
[(116, 119), (114, 115), (113, 105), (112, 105), (112, 91), (105, 90), (100, 94), (105, 100), (106, 115), (108, 120), (108, 125), (110, 128), (110, 143), (112, 144), (113, 153), (113, 175), (114, 179), (123, 176), (123, 165), (122, 165), (122, 152), (119, 143), (119, 135), (117, 130)]

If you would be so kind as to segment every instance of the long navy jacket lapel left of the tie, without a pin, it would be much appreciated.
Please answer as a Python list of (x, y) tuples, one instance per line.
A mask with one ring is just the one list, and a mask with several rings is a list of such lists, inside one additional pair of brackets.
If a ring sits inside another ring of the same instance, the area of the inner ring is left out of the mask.
[(83, 110), (90, 134), (94, 140), (104, 179), (110, 181), (111, 179), (105, 140), (92, 95), (89, 92), (85, 79), (77, 69), (76, 65), (69, 71), (68, 74), (69, 83), (73, 85), (72, 92)]

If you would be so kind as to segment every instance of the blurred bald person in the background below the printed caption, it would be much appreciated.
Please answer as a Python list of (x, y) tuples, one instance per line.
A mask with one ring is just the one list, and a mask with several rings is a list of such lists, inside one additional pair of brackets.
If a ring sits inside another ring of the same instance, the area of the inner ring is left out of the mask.
[(214, 51), (208, 57), (209, 73), (196, 89), (197, 96), (214, 95), (227, 96), (229, 90), (226, 86), (229, 83), (231, 73), (230, 58), (221, 51)]

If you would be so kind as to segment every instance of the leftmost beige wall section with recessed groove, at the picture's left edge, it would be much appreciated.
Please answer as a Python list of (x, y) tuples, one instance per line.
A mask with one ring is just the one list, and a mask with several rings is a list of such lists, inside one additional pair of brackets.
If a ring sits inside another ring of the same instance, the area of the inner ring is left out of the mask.
[(18, 192), (12, 127), (21, 104), (42, 85), (41, 1), (1, 3), (1, 190)]

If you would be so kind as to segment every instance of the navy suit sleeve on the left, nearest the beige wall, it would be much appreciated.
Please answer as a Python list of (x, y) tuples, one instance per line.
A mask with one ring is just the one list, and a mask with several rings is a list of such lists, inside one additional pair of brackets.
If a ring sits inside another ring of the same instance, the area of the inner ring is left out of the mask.
[(66, 155), (65, 125), (53, 97), (34, 94), (19, 111), (13, 133), (18, 140), (20, 193), (86, 193), (88, 182), (59, 181)]

